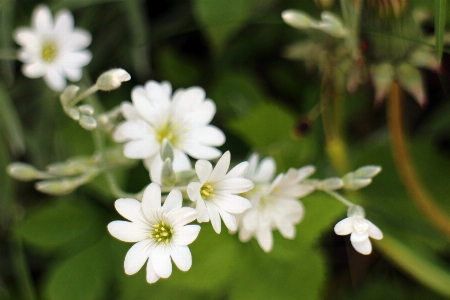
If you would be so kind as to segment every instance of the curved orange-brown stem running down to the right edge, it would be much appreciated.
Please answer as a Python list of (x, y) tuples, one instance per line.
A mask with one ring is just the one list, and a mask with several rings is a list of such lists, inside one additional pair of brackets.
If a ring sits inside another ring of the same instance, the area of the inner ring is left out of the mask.
[(388, 95), (387, 119), (391, 139), (391, 149), (400, 179), (406, 187), (418, 211), (450, 239), (450, 218), (436, 205), (431, 195), (422, 185), (411, 161), (403, 123), (403, 94), (398, 83), (394, 83)]

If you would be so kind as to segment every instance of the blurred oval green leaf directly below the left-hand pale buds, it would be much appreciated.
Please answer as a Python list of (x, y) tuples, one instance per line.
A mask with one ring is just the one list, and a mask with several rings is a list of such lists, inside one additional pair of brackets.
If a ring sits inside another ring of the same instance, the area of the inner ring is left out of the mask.
[(24, 242), (43, 251), (66, 250), (86, 243), (97, 226), (92, 207), (81, 199), (46, 203), (27, 214), (19, 227)]

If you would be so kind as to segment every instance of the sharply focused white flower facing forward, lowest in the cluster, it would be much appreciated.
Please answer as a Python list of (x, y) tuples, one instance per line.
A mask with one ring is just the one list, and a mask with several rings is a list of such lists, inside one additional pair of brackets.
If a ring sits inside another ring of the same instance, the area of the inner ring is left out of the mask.
[(136, 243), (125, 256), (125, 273), (138, 272), (148, 259), (147, 281), (156, 282), (172, 273), (172, 263), (182, 271), (192, 265), (191, 252), (187, 245), (192, 243), (200, 231), (198, 225), (186, 225), (197, 217), (193, 208), (181, 207), (179, 190), (172, 190), (161, 207), (161, 189), (151, 183), (144, 191), (142, 203), (135, 199), (118, 199), (117, 211), (127, 221), (113, 221), (108, 224), (112, 236)]

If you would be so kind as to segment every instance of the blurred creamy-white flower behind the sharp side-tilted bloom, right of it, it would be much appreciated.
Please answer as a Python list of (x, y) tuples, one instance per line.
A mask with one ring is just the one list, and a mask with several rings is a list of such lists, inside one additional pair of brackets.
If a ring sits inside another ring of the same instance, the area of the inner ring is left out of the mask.
[(250, 157), (250, 168), (246, 177), (252, 178), (255, 188), (245, 196), (252, 208), (240, 216), (239, 239), (242, 242), (256, 237), (265, 252), (273, 247), (272, 230), (278, 229), (288, 239), (295, 236), (295, 224), (303, 218), (304, 208), (297, 199), (314, 191), (314, 186), (301, 183), (314, 172), (314, 167), (289, 169), (286, 174), (278, 175), (272, 183), (275, 162), (265, 158), (258, 167), (258, 156)]

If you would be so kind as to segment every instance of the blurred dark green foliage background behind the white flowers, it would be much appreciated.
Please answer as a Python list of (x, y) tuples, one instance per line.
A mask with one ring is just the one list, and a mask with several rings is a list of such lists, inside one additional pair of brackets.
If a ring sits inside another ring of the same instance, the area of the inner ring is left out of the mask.
[[(338, 1), (336, 1), (338, 2)], [(351, 1), (350, 1), (351, 2)], [(29, 26), (37, 1), (0, 1), (0, 49), (14, 49), (11, 32)], [(281, 12), (295, 8), (316, 18), (320, 8), (304, 0), (48, 1), (53, 13), (70, 9), (76, 26), (93, 36), (86, 88), (102, 72), (127, 70), (131, 81), (99, 93), (111, 109), (130, 100), (147, 80), (168, 80), (174, 89), (198, 85), (215, 101), (213, 124), (224, 130), (232, 159), (252, 151), (273, 156), (277, 172), (313, 164), (318, 178), (339, 174), (325, 150), (320, 73), (283, 57), (286, 46), (307, 35), (286, 25)], [(434, 32), (434, 1), (413, 1), (430, 13), (423, 25)], [(340, 14), (339, 3), (332, 8)], [(449, 18), (448, 18), (449, 19)], [(366, 34), (370, 28), (366, 28)], [(385, 32), (390, 36), (390, 32)], [(391, 36), (391, 38), (401, 38)], [(0, 170), (12, 161), (39, 169), (73, 156), (91, 155), (91, 133), (64, 115), (58, 95), (41, 79), (24, 77), (20, 63), (0, 61)], [(428, 104), (405, 102), (409, 149), (420, 179), (450, 215), (450, 57), (442, 71), (423, 71)], [(385, 107), (375, 108), (369, 82), (344, 102), (344, 133), (351, 169), (371, 164), (383, 171), (372, 185), (346, 193), (364, 206), (384, 233), (370, 256), (358, 254), (334, 224), (346, 209), (315, 192), (302, 199), (306, 214), (294, 240), (275, 233), (264, 253), (255, 240), (217, 235), (203, 224), (190, 246), (193, 266), (150, 285), (145, 271), (127, 276), (131, 244), (112, 238), (106, 225), (121, 219), (116, 200), (100, 176), (68, 196), (52, 197), (0, 172), (0, 299), (445, 299), (450, 297), (449, 239), (411, 202), (398, 176)], [(108, 141), (112, 145), (112, 141)], [(149, 183), (141, 163), (117, 170), (124, 190)]]

